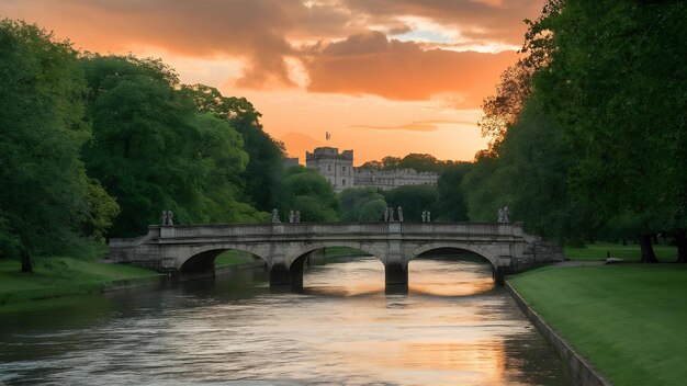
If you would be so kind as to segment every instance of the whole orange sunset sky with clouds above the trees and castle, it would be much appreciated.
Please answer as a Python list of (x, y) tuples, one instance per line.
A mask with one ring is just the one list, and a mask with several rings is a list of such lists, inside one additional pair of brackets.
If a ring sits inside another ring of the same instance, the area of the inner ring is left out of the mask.
[[(159, 57), (184, 83), (246, 96), (304, 162), (427, 152), (471, 160), (482, 99), (541, 0), (0, 0), (90, 52)], [(331, 139), (325, 140), (325, 132)]]

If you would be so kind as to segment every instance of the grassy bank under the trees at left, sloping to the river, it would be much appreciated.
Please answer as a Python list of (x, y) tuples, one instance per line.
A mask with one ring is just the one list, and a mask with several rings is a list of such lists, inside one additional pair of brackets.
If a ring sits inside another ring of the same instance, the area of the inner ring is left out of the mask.
[(70, 258), (35, 259), (33, 274), (20, 269), (19, 261), (0, 261), (0, 305), (98, 292), (108, 283), (158, 275), (136, 266)]

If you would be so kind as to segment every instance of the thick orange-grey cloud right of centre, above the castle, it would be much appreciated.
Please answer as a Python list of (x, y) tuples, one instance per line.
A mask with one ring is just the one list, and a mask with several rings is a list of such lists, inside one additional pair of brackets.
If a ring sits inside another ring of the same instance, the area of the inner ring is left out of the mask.
[(380, 32), (331, 43), (304, 59), (312, 92), (375, 94), (391, 100), (428, 100), (451, 93), (457, 107), (478, 106), (494, 90), (514, 52), (425, 50), (414, 42), (388, 41)]

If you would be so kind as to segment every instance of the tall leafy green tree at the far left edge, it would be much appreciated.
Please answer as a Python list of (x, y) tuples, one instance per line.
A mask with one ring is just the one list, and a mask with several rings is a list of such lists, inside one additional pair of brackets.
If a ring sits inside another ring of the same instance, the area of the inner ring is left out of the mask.
[(0, 254), (20, 254), (31, 272), (32, 254), (91, 252), (117, 208), (79, 159), (90, 126), (76, 52), (3, 20), (0, 84)]

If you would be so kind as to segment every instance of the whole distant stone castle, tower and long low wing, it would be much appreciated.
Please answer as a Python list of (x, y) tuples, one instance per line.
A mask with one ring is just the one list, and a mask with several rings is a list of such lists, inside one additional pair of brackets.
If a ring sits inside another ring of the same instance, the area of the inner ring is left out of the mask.
[(432, 172), (417, 172), (413, 169), (373, 170), (353, 168), (353, 150), (335, 147), (318, 147), (305, 152), (305, 166), (316, 169), (324, 175), (335, 192), (348, 188), (376, 188), (391, 190), (405, 185), (436, 186), (439, 175)]

